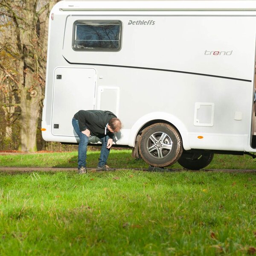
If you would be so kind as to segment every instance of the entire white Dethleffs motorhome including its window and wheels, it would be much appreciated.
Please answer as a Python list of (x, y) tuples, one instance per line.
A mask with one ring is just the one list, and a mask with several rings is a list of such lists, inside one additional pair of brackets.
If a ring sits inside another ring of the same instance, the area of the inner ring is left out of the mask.
[(43, 138), (77, 143), (73, 115), (101, 109), (122, 120), (116, 145), (154, 166), (256, 152), (255, 47), (253, 0), (58, 2)]

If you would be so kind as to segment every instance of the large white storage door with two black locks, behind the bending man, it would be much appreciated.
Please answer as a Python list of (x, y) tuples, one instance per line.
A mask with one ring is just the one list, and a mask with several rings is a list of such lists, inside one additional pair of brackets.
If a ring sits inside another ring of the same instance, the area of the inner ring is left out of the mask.
[(77, 136), (72, 126), (74, 114), (93, 110), (96, 70), (92, 68), (57, 68), (54, 76), (52, 134)]

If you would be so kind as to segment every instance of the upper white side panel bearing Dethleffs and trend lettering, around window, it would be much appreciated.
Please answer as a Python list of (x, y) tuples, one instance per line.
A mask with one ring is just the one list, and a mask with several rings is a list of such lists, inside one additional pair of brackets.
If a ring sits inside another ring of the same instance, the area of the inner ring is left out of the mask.
[[(112, 20), (123, 23), (119, 52), (73, 51), (70, 47), (76, 20), (101, 20), (104, 16), (67, 17), (63, 56), (71, 63), (93, 63), (175, 70), (236, 79), (252, 79), (256, 17), (195, 15), (176, 12), (168, 15), (143, 14)], [(200, 13), (202, 14), (202, 13)], [(213, 13), (212, 13), (213, 14)], [(131, 21), (152, 21), (151, 25), (129, 25)], [(154, 24), (154, 25), (153, 25)], [(236, 26), (234, 26), (236, 24)], [(246, 29), (244, 29), (246, 28)], [(188, 43), (189, 41), (189, 43)], [(218, 53), (218, 54), (217, 54)]]

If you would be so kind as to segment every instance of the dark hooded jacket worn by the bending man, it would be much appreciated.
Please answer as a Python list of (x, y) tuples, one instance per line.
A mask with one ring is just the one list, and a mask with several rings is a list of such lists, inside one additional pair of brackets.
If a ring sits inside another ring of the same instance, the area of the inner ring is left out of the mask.
[(110, 111), (103, 110), (79, 110), (74, 118), (78, 120), (80, 131), (85, 131), (88, 129), (92, 136), (101, 137), (102, 135), (108, 135), (113, 139), (114, 134), (105, 130), (106, 125), (109, 120), (116, 117)]

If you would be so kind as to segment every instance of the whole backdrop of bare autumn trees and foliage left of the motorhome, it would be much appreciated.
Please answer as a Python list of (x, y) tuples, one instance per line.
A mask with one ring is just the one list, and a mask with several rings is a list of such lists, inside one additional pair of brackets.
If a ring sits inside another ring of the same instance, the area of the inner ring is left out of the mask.
[(48, 17), (57, 2), (0, 1), (0, 150), (46, 147), (40, 125)]

